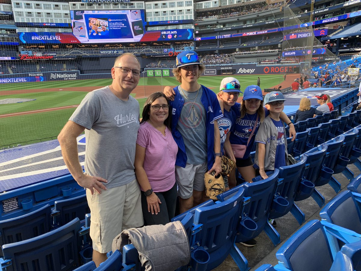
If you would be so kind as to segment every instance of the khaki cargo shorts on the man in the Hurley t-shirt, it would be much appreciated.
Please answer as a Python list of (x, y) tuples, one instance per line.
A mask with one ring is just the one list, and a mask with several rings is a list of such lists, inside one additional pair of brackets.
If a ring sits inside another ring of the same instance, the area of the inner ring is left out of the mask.
[(99, 194), (87, 189), (90, 208), (90, 237), (93, 249), (100, 253), (112, 250), (113, 239), (124, 229), (142, 227), (140, 189), (135, 179), (129, 184), (109, 188)]

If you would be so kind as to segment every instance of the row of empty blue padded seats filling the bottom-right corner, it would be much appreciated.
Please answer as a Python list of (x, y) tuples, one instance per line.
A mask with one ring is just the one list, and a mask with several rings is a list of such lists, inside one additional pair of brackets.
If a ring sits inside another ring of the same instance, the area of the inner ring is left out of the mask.
[(276, 253), (279, 263), (256, 271), (352, 271), (361, 268), (361, 175), (336, 195)]

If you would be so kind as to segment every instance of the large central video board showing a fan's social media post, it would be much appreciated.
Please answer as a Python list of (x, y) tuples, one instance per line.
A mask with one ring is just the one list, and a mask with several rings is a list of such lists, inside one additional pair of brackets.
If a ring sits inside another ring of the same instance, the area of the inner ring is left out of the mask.
[(139, 42), (144, 10), (71, 10), (73, 35), (80, 43)]

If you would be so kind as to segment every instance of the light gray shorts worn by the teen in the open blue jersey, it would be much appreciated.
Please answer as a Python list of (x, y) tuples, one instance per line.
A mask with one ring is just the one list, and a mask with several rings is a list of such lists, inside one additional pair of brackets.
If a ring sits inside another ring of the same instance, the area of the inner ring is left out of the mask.
[(204, 191), (204, 173), (208, 171), (207, 162), (198, 165), (186, 164), (185, 168), (175, 166), (175, 180), (178, 185), (178, 196), (187, 199), (192, 197), (193, 189)]

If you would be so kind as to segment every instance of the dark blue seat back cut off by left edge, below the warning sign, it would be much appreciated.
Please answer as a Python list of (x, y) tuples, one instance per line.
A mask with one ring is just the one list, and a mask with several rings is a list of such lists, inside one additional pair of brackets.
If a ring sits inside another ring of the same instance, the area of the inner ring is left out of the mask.
[[(51, 230), (51, 208), (47, 204), (38, 210), (16, 218), (0, 220), (0, 245), (27, 240)], [(0, 251), (0, 257), (3, 256)]]

